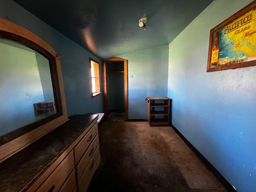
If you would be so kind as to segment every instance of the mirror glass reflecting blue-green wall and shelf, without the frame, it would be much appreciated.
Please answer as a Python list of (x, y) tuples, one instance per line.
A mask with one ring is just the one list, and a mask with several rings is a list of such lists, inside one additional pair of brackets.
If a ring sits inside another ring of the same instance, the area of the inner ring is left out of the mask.
[(49, 60), (0, 39), (0, 136), (56, 113)]

